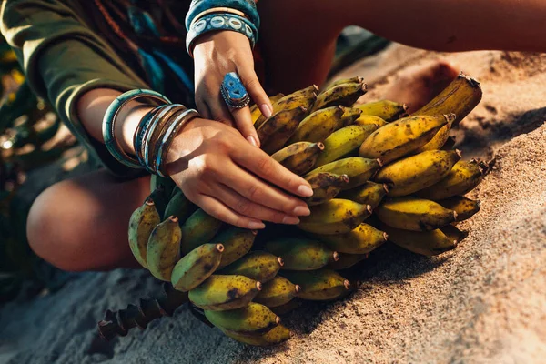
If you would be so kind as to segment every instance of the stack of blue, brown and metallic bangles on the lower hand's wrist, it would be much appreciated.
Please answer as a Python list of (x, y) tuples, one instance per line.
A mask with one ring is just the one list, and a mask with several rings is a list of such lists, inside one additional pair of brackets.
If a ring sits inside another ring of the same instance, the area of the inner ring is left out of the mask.
[[(163, 105), (150, 110), (142, 117), (133, 137), (136, 157), (126, 154), (116, 139), (116, 118), (129, 102), (147, 98), (162, 102)], [(165, 160), (173, 139), (182, 126), (195, 117), (196, 110), (180, 104), (172, 104), (167, 97), (151, 90), (136, 89), (118, 96), (108, 106), (103, 120), (103, 137), (106, 148), (126, 167), (144, 168), (152, 174), (167, 176)]]

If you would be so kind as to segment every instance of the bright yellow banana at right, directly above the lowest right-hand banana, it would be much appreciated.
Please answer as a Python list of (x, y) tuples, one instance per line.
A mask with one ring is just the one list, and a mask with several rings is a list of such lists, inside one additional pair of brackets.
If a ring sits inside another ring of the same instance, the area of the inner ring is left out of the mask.
[(374, 212), (389, 227), (412, 231), (435, 230), (457, 218), (455, 211), (434, 201), (410, 196), (387, 198)]

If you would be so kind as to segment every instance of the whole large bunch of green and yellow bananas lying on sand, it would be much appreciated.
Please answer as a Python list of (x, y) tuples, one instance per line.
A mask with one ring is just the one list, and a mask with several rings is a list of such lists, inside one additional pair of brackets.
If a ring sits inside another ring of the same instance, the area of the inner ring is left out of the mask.
[(354, 77), (274, 96), (267, 119), (252, 109), (263, 149), (314, 189), (296, 231), (266, 228), (255, 242), (256, 231), (224, 226), (154, 177), (130, 219), (136, 259), (227, 336), (265, 346), (290, 337), (278, 316), (301, 300), (346, 296), (355, 285), (339, 271), (387, 240), (426, 256), (455, 248), (454, 224), (480, 209), (463, 195), (489, 167), (444, 145), (480, 85), (461, 74), (413, 116), (390, 101), (356, 105), (365, 92)]

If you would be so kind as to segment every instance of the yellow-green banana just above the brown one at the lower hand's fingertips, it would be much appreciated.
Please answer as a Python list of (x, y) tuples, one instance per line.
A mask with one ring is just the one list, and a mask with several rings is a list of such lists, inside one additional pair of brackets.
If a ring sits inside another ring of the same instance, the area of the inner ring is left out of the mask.
[(336, 175), (347, 175), (349, 183), (341, 187), (342, 190), (346, 190), (365, 184), (369, 178), (376, 174), (379, 167), (382, 167), (379, 159), (349, 157), (315, 168), (306, 177), (327, 172)]

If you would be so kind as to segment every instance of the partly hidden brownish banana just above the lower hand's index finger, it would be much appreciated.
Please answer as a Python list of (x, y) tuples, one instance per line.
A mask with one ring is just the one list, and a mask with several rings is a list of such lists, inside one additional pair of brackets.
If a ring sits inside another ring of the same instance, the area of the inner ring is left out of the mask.
[(303, 175), (315, 166), (322, 150), (322, 143), (298, 142), (280, 149), (271, 157), (291, 172)]

